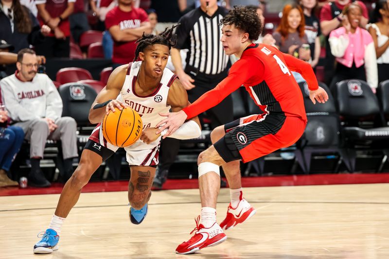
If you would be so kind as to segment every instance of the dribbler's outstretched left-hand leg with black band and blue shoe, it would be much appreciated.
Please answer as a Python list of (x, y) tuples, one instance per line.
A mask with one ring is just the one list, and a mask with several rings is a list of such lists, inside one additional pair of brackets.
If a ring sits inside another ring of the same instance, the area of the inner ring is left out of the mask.
[(49, 228), (42, 233), (41, 240), (34, 246), (34, 253), (48, 254), (58, 249), (59, 234), (62, 224), (70, 210), (77, 203), (82, 188), (88, 183), (91, 175), (114, 152), (101, 146), (97, 142), (88, 140), (82, 152), (80, 163), (66, 182)]

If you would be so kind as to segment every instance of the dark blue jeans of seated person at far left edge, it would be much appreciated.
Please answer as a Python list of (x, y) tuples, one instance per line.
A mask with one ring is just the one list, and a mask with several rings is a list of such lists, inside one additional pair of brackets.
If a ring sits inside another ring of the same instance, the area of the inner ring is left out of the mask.
[(10, 126), (0, 136), (0, 168), (9, 171), (12, 161), (23, 143), (24, 132), (22, 128)]

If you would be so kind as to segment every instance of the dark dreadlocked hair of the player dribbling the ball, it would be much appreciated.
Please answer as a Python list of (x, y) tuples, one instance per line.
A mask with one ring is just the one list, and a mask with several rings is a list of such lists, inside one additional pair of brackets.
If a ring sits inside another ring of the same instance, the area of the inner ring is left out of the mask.
[(134, 62), (138, 60), (139, 52), (143, 52), (144, 49), (147, 48), (147, 46), (155, 44), (165, 45), (169, 48), (169, 51), (172, 47), (176, 46), (177, 35), (173, 35), (173, 30), (177, 26), (178, 24), (173, 25), (170, 29), (166, 27), (166, 29), (159, 35), (143, 33), (141, 38), (136, 41), (136, 43), (138, 43), (138, 46), (135, 50)]

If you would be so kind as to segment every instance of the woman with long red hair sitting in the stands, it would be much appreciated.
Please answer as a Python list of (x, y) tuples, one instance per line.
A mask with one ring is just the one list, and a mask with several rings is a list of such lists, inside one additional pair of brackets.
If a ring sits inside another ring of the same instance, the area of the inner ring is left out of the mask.
[(310, 61), (311, 51), (301, 48), (303, 44), (308, 43), (304, 27), (304, 14), (300, 5), (295, 3), (286, 4), (283, 8), (280, 25), (273, 33), (273, 37), (276, 40), (275, 45), (281, 52)]

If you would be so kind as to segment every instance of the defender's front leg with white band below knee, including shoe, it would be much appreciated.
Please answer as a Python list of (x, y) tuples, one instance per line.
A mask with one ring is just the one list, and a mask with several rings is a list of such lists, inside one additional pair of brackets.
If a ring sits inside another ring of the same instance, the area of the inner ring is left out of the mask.
[(220, 190), (219, 167), (225, 161), (213, 145), (198, 156), (198, 185), (201, 199), (201, 223), (196, 220), (195, 235), (187, 242), (178, 245), (176, 253), (191, 254), (214, 246), (227, 239), (216, 223), (216, 202)]

